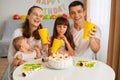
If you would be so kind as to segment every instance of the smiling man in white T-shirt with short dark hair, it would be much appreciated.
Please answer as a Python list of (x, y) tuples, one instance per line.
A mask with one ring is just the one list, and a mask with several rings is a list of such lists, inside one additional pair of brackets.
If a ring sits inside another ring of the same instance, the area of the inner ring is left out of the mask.
[(69, 14), (73, 19), (74, 24), (71, 25), (71, 32), (74, 37), (76, 45), (75, 55), (88, 59), (95, 58), (95, 54), (100, 49), (100, 29), (94, 27), (89, 33), (89, 40), (83, 39), (84, 22), (85, 22), (85, 8), (84, 4), (80, 1), (73, 1), (69, 5)]

